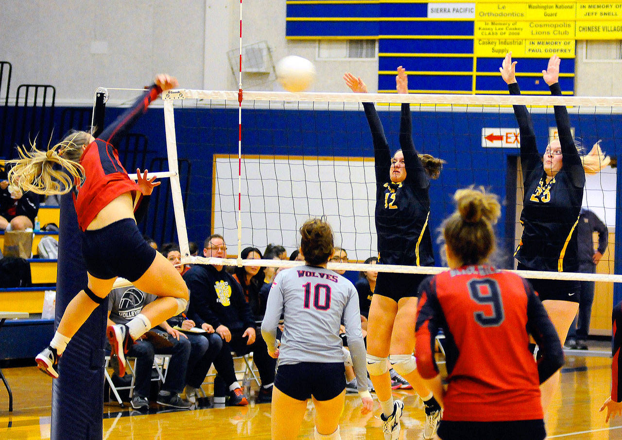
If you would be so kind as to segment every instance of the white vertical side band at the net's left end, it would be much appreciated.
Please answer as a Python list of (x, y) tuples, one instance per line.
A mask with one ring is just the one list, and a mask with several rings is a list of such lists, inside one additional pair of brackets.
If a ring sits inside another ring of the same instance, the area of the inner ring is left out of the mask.
[(177, 227), (177, 240), (182, 257), (190, 256), (188, 249), (188, 231), (186, 219), (183, 213), (182, 186), (179, 182), (179, 165), (177, 163), (177, 138), (175, 137), (175, 115), (173, 101), (164, 100), (164, 131), (166, 134), (166, 150), (169, 159), (170, 192), (173, 198), (173, 210), (175, 212), (175, 226)]

